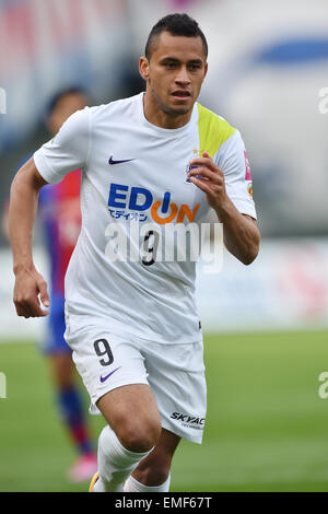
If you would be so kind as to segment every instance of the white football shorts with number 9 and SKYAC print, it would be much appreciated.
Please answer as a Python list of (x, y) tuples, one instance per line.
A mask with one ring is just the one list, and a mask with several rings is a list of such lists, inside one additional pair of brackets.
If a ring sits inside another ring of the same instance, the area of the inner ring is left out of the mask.
[(188, 441), (201, 443), (207, 409), (202, 340), (163, 344), (128, 332), (113, 334), (110, 323), (69, 314), (66, 340), (91, 397), (96, 401), (128, 384), (148, 384), (155, 397), (162, 427)]

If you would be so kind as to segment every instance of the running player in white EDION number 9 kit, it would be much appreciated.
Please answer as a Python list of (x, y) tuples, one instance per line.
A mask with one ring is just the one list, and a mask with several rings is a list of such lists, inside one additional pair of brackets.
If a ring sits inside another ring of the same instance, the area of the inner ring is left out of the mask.
[[(75, 113), (12, 184), (14, 304), (20, 316), (46, 316), (47, 284), (31, 249), (38, 191), (82, 170), (82, 230), (66, 277), (66, 340), (92, 412), (107, 422), (93, 492), (168, 491), (180, 439), (202, 441), (196, 264), (160, 258), (160, 235), (169, 224), (200, 226), (213, 210), (237, 259), (249, 265), (258, 254), (241, 135), (197, 102), (207, 55), (206, 37), (187, 14), (160, 20), (139, 63), (145, 92)], [(155, 229), (142, 233), (145, 223)], [(122, 227), (142, 258), (125, 258), (125, 238), (116, 237)]]

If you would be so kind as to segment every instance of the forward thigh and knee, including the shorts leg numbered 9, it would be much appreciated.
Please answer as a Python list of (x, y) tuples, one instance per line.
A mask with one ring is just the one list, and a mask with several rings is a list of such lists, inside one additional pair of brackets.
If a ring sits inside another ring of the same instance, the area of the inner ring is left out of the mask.
[(69, 315), (66, 334), (91, 396), (91, 412), (101, 411), (121, 442), (155, 442), (161, 419), (138, 342), (131, 335), (112, 334), (104, 319), (92, 323)]

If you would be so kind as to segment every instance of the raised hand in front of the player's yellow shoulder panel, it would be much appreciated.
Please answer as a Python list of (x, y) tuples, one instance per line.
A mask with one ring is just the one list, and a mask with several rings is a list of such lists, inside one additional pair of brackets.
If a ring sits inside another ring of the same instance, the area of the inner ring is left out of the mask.
[(190, 182), (206, 194), (209, 205), (213, 209), (223, 207), (229, 201), (224, 175), (208, 152), (202, 152), (202, 157), (192, 159), (190, 166), (197, 166), (189, 172)]

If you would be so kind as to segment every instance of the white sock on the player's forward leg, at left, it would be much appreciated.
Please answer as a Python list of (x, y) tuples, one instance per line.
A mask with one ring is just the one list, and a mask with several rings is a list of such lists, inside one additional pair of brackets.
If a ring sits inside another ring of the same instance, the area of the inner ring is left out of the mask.
[(98, 440), (99, 478), (93, 492), (121, 492), (125, 480), (152, 449), (145, 453), (129, 452), (120, 444), (114, 430), (105, 427)]

